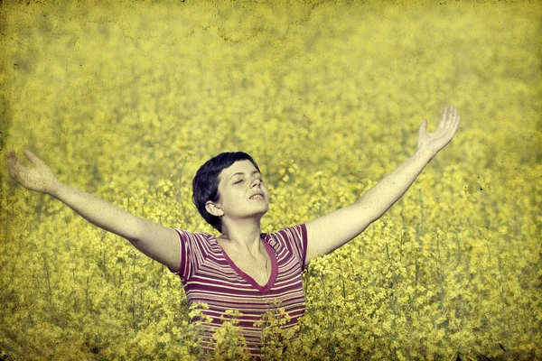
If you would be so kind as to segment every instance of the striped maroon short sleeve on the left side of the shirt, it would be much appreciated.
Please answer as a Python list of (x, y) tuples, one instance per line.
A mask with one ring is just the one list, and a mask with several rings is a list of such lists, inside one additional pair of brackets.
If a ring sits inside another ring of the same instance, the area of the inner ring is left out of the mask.
[(188, 280), (196, 273), (199, 265), (206, 255), (207, 243), (206, 234), (192, 233), (184, 231), (182, 229), (173, 228), (177, 235), (179, 235), (180, 249), (181, 249), (181, 264), (179, 264), (179, 271), (168, 269), (173, 273), (181, 277), (182, 280)]

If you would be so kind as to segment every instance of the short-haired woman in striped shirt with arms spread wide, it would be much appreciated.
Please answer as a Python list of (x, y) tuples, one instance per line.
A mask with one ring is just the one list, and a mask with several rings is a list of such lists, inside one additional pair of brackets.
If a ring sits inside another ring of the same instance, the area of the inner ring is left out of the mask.
[(294, 326), (304, 314), (301, 273), (316, 255), (344, 245), (380, 218), (447, 143), (460, 123), (453, 106), (444, 108), (434, 133), (424, 119), (416, 153), (354, 204), (306, 224), (260, 233), (269, 193), (257, 163), (247, 153), (221, 153), (203, 164), (193, 180), (192, 199), (220, 236), (164, 227), (57, 180), (33, 153), (34, 168), (7, 153), (9, 172), (25, 188), (50, 194), (92, 224), (129, 240), (145, 255), (182, 279), (190, 303), (206, 302), (211, 322), (200, 329), (202, 347), (213, 348), (212, 333), (226, 310), (239, 310), (239, 326), (252, 354), (260, 354), (261, 328), (255, 322), (272, 307), (283, 307)]

